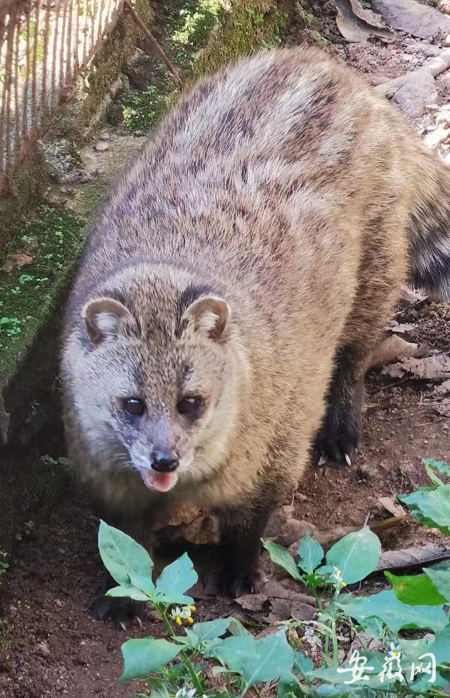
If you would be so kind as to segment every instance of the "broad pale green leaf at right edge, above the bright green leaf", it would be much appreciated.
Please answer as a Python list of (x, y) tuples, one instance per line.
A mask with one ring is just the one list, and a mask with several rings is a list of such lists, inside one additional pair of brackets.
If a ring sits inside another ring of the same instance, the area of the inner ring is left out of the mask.
[(397, 496), (424, 526), (450, 533), (450, 485), (436, 490), (420, 488), (410, 495)]

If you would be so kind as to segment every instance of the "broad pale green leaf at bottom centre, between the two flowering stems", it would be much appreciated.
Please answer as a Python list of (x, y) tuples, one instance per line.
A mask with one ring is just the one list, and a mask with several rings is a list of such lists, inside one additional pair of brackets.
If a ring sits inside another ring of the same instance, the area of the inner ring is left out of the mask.
[(255, 640), (250, 635), (227, 637), (210, 652), (249, 686), (290, 673), (294, 655), (285, 631)]

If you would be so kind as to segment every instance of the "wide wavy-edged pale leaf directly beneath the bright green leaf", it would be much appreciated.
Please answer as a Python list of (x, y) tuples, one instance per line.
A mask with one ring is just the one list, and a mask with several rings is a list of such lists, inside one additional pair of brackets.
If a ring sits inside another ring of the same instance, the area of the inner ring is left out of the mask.
[(396, 632), (406, 628), (442, 630), (446, 625), (443, 606), (408, 606), (398, 601), (393, 590), (380, 591), (372, 596), (339, 597), (336, 606), (364, 625), (365, 620), (375, 616)]

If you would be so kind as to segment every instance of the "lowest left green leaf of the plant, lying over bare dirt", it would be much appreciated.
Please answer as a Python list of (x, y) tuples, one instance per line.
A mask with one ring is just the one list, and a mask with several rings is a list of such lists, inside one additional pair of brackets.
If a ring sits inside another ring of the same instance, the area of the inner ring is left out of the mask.
[(124, 673), (119, 681), (146, 678), (148, 674), (173, 661), (181, 649), (179, 645), (165, 639), (143, 637), (127, 640), (122, 645)]

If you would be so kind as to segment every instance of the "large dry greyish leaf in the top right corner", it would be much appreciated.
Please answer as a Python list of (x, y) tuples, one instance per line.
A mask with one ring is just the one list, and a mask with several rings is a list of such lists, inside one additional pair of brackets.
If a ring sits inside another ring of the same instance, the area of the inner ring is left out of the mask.
[(372, 0), (371, 4), (393, 29), (401, 29), (421, 39), (437, 35), (439, 29), (450, 33), (450, 17), (429, 5), (415, 0)]

